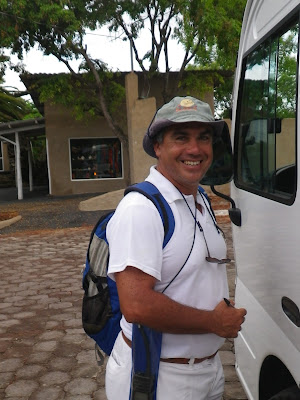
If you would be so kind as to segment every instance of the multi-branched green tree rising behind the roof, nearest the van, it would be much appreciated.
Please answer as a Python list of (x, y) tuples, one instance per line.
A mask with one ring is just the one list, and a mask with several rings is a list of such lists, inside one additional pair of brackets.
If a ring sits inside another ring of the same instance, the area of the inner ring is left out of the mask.
[[(233, 75), (245, 5), (246, 0), (110, 0), (98, 2), (98, 12), (105, 13), (104, 19), (111, 31), (130, 41), (145, 79), (158, 71), (159, 60), (163, 60), (166, 73), (163, 97), (168, 101), (176, 93), (183, 72), (192, 61), (194, 68), (227, 69)], [(137, 39), (145, 28), (150, 32), (150, 44), (146, 51), (139, 51)], [(177, 40), (184, 49), (173, 89), (169, 87), (170, 38)], [(221, 77), (218, 79), (223, 82)]]

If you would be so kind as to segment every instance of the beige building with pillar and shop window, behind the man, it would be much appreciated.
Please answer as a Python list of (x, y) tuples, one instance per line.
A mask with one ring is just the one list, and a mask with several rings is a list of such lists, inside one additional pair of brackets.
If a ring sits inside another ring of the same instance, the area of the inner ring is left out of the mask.
[[(71, 111), (62, 106), (50, 102), (44, 104), (50, 194), (108, 192), (142, 181), (147, 176), (155, 160), (143, 151), (142, 138), (156, 109), (163, 104), (162, 76), (153, 78), (147, 98), (142, 95), (141, 75), (123, 74), (123, 80), (126, 96), (119, 112), (121, 127), (128, 135), (128, 152), (104, 117), (87, 123), (76, 120)], [(28, 82), (25, 84), (30, 91)], [(182, 95), (185, 95), (183, 90)], [(189, 94), (202, 97), (213, 109), (213, 88), (204, 96)], [(2, 153), (2, 164), (6, 165), (3, 144)]]

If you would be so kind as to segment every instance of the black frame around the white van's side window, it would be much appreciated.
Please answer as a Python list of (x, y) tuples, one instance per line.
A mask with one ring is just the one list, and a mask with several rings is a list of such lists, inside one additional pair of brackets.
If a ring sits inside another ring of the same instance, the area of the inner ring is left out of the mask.
[[(276, 201), (278, 203), (283, 203), (286, 205), (292, 205), (295, 202), (296, 194), (297, 194), (297, 166), (298, 166), (298, 151), (297, 151), (297, 143), (298, 143), (298, 90), (299, 90), (299, 53), (300, 53), (300, 6), (297, 6), (297, 10), (293, 11), (293, 15), (289, 14), (283, 21), (281, 21), (278, 25), (276, 25), (267, 35), (262, 37), (254, 46), (252, 46), (245, 54), (243, 55), (242, 60), (242, 69), (241, 69), (241, 76), (239, 80), (239, 90), (238, 90), (238, 99), (237, 99), (237, 112), (236, 112), (236, 120), (235, 120), (235, 137), (234, 137), (234, 184), (237, 188), (245, 190), (247, 192), (256, 194), (261, 197), (268, 198), (270, 200)], [(242, 109), (242, 95), (243, 95), (243, 87), (244, 87), (244, 77), (246, 72), (246, 63), (249, 54), (251, 54), (254, 50), (258, 49), (264, 42), (267, 40), (274, 40), (275, 38), (280, 37), (285, 32), (287, 32), (294, 24), (298, 23), (298, 52), (297, 52), (297, 74), (296, 74), (296, 118), (295, 118), (295, 188), (294, 193), (289, 197), (280, 196), (279, 194), (273, 194), (266, 191), (262, 191), (251, 187), (243, 182), (238, 180), (238, 157), (237, 151), (239, 147), (240, 141), (240, 119), (241, 119), (241, 109)]]

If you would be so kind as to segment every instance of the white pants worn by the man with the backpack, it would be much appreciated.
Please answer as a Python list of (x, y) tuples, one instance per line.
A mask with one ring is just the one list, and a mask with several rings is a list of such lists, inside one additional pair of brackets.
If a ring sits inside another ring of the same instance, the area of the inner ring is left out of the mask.
[[(131, 348), (120, 333), (106, 366), (108, 400), (129, 400)], [(221, 400), (224, 374), (217, 354), (198, 364), (159, 365), (157, 400)]]

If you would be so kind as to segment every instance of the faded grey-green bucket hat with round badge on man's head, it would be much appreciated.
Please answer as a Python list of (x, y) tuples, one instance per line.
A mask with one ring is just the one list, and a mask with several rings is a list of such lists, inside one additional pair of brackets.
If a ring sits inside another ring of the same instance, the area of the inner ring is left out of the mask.
[(174, 97), (169, 103), (159, 108), (150, 123), (143, 139), (144, 150), (149, 156), (156, 157), (153, 139), (164, 128), (184, 122), (204, 122), (210, 125), (214, 134), (219, 136), (224, 127), (224, 121), (215, 121), (209, 104), (195, 97)]

